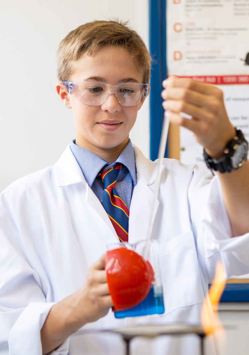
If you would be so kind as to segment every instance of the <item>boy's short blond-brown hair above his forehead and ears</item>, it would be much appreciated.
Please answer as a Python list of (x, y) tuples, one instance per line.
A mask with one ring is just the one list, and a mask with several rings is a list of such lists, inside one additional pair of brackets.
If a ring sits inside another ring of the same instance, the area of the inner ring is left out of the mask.
[(57, 51), (59, 81), (67, 81), (73, 64), (83, 54), (93, 55), (104, 45), (118, 45), (126, 49), (143, 73), (143, 83), (149, 82), (151, 56), (140, 35), (128, 27), (128, 21), (93, 21), (85, 23), (61, 41)]

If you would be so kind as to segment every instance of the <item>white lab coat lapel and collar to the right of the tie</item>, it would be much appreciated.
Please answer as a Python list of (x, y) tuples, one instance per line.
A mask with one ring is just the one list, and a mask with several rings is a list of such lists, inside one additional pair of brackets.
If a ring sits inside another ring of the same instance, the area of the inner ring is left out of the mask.
[[(145, 158), (136, 146), (133, 146), (133, 149), (136, 160), (137, 184), (133, 191), (130, 206), (129, 242), (131, 244), (147, 238), (154, 198), (154, 182), (157, 174), (157, 162), (154, 163)], [(158, 205), (159, 201), (157, 200), (156, 209)]]

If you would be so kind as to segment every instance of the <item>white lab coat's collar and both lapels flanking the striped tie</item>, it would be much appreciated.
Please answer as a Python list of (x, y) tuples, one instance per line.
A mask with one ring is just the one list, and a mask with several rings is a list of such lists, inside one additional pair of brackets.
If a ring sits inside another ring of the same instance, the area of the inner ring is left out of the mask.
[[(129, 218), (129, 242), (136, 243), (139, 240), (146, 239), (148, 235), (149, 222), (151, 218), (151, 206), (153, 203), (153, 187), (157, 174), (157, 164), (151, 160), (145, 158), (143, 153), (136, 146), (133, 145), (137, 170), (137, 184), (134, 187), (131, 206), (130, 206), (130, 218)], [(70, 146), (66, 148), (66, 151), (62, 154), (58, 162), (55, 164), (56, 172), (58, 176), (59, 186), (68, 186), (83, 182), (86, 185), (86, 201), (89, 206), (92, 207), (93, 213), (96, 214), (96, 218), (99, 216), (104, 223), (108, 226), (111, 234), (110, 238), (113, 242), (118, 242), (118, 236), (114, 230), (114, 227), (104, 210), (102, 204), (98, 201), (94, 192), (88, 186), (84, 175), (80, 169), (80, 166), (75, 159)], [(163, 165), (164, 168), (164, 165)], [(162, 169), (163, 169), (162, 168)], [(157, 200), (158, 208), (159, 201)], [(155, 218), (155, 215), (154, 215)], [(154, 219), (153, 218), (153, 219)], [(111, 237), (112, 235), (112, 237)], [(110, 240), (111, 240), (110, 239)]]

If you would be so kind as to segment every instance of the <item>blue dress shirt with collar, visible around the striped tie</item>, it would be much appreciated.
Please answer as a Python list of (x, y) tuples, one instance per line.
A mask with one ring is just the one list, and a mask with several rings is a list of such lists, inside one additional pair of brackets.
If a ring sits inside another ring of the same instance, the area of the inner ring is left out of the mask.
[(77, 146), (75, 140), (71, 142), (70, 148), (80, 166), (87, 184), (91, 187), (100, 202), (104, 191), (104, 183), (100, 176), (97, 176), (98, 173), (101, 169), (105, 171), (113, 168), (116, 163), (123, 164), (122, 169), (118, 174), (116, 190), (126, 206), (130, 209), (133, 189), (137, 183), (135, 154), (131, 140), (129, 139), (129, 143), (121, 152), (118, 159), (113, 163), (108, 163), (100, 157), (97, 157), (97, 155)]

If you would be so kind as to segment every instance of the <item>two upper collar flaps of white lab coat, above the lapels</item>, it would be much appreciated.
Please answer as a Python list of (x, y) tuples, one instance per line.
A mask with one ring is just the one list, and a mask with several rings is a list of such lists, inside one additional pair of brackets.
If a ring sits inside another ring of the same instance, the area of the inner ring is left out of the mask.
[[(135, 153), (137, 177), (141, 178), (146, 185), (153, 184), (157, 175), (157, 160), (152, 162), (134, 144), (132, 144), (132, 147)], [(78, 182), (83, 182), (87, 185), (80, 166), (70, 149), (70, 144), (68, 144), (66, 150), (55, 163), (55, 168), (59, 187), (77, 184)], [(162, 166), (163, 169), (164, 165)]]

